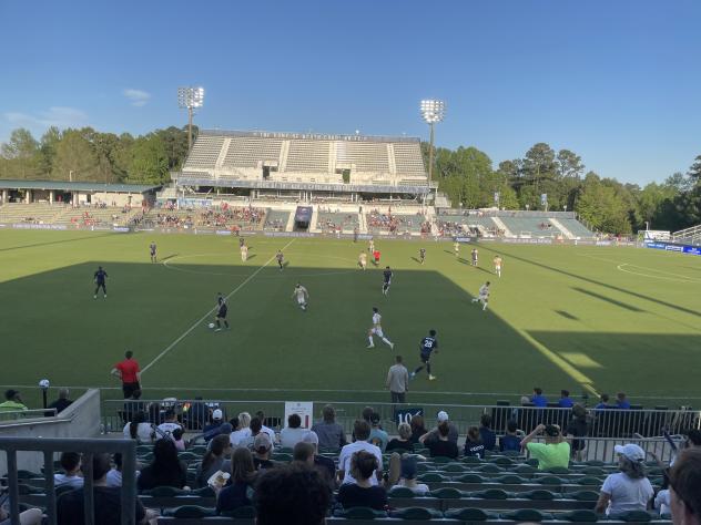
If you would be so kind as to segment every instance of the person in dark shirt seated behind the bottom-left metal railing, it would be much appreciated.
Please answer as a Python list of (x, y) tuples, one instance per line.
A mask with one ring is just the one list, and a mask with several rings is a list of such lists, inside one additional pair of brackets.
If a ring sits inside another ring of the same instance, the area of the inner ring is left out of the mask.
[[(166, 441), (166, 440), (163, 440)], [(110, 472), (110, 454), (92, 456), (94, 523), (100, 525), (120, 525), (122, 519), (121, 488), (108, 486), (106, 476)], [(84, 495), (82, 488), (75, 488), (59, 497), (57, 503), (57, 518), (59, 525), (83, 525)], [(152, 513), (146, 513), (136, 500), (136, 523), (146, 524)]]

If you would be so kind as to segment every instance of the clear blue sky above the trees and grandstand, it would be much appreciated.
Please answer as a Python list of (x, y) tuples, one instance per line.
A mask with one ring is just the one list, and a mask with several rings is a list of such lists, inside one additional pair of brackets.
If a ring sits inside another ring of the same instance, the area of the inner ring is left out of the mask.
[(701, 154), (698, 0), (0, 0), (0, 141), (50, 124), (427, 136), (498, 162), (537, 142), (640, 184)]

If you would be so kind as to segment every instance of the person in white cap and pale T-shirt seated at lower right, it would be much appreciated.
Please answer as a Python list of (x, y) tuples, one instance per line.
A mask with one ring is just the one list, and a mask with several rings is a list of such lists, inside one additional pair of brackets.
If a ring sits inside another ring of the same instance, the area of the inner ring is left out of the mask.
[(633, 444), (616, 445), (618, 469), (601, 485), (601, 493), (595, 511), (616, 516), (630, 511), (647, 511), (654, 496), (650, 480), (646, 477), (646, 453)]

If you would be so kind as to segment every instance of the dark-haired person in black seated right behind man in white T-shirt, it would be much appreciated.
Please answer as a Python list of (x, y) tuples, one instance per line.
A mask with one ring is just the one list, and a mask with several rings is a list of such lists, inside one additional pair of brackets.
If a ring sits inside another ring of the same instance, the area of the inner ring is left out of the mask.
[(387, 493), (377, 483), (373, 483), (375, 472), (382, 463), (377, 457), (365, 451), (353, 453), (350, 457), (350, 474), (355, 483), (344, 483), (338, 490), (336, 501), (344, 507), (370, 507), (384, 511), (387, 506)]

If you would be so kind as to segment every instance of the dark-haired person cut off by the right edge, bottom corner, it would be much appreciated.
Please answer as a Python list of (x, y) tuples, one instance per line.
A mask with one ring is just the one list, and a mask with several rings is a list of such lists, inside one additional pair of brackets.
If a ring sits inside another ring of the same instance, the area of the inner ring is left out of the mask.
[(701, 450), (684, 450), (669, 474), (674, 525), (701, 525)]

